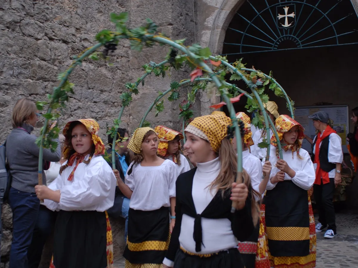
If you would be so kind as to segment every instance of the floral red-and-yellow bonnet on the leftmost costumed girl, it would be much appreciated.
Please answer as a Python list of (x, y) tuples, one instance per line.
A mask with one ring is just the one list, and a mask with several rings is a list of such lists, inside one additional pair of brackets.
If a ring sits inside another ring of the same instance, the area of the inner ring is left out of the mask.
[[(78, 120), (73, 120), (73, 121), (69, 121), (65, 127), (63, 128), (63, 135), (65, 136), (65, 138), (67, 140), (71, 140), (71, 136), (72, 133), (68, 133), (69, 127), (71, 125), (71, 123), (78, 121), (81, 124), (83, 124), (86, 129), (88, 130), (88, 132), (91, 134), (92, 136), (92, 140), (93, 140), (93, 144), (95, 144), (95, 153), (94, 155), (102, 155), (105, 154), (105, 145), (103, 144), (101, 138), (98, 136), (98, 130), (100, 130), (100, 125), (98, 125), (98, 123), (96, 122), (95, 119), (91, 119), (91, 118), (87, 118), (87, 119), (78, 119)], [(70, 143), (71, 144), (71, 143)], [(72, 146), (69, 145), (64, 145), (63, 148), (63, 158), (64, 159), (68, 159), (69, 158), (69, 153), (72, 150)]]

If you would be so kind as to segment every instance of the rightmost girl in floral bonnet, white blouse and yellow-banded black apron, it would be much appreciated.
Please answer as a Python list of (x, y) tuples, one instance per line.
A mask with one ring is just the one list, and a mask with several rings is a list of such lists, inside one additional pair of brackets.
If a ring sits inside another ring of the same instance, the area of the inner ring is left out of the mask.
[(304, 128), (288, 115), (280, 115), (275, 125), (280, 140), (271, 137), (273, 167), (262, 208), (271, 267), (313, 268), (316, 234), (308, 190), (315, 181), (315, 170), (308, 152), (301, 148)]

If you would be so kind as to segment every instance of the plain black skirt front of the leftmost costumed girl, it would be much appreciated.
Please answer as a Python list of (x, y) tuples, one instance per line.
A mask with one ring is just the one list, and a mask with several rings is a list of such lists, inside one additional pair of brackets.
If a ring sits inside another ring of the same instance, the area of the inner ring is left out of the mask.
[(105, 212), (59, 211), (53, 248), (56, 268), (106, 268), (106, 244)]

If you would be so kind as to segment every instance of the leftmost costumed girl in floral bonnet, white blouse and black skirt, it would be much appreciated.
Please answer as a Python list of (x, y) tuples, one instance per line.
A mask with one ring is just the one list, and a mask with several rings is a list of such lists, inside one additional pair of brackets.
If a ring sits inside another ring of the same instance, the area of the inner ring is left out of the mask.
[(36, 185), (39, 199), (57, 210), (50, 268), (113, 268), (111, 225), (116, 178), (102, 157), (105, 145), (93, 119), (68, 122), (63, 157), (68, 159), (48, 186)]

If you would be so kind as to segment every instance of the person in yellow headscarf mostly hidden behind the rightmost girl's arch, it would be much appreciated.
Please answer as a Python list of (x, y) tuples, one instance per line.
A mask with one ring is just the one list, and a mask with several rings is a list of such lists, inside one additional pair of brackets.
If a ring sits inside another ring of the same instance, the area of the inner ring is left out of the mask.
[[(270, 116), (270, 119), (273, 123), (275, 123), (276, 118), (279, 117), (279, 112), (277, 111), (279, 107), (274, 101), (267, 101), (267, 103), (263, 104), (264, 108), (266, 109), (267, 115)], [(261, 113), (261, 111), (260, 111)], [(272, 126), (270, 125), (270, 137), (274, 134), (272, 131)], [(252, 137), (254, 145), (251, 147), (251, 153), (255, 155), (257, 158), (262, 159), (266, 157), (267, 148), (260, 148), (258, 145), (263, 141), (263, 139), (266, 139), (266, 142), (269, 143), (269, 140), (266, 138), (266, 129), (265, 125), (263, 129), (256, 131), (255, 134)]]

